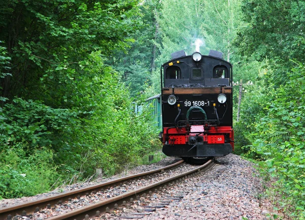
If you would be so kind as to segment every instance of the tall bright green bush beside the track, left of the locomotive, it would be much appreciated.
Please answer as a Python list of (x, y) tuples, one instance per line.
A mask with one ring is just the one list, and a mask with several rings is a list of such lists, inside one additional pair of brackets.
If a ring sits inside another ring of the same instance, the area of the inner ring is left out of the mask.
[[(77, 163), (85, 175), (94, 173), (97, 167), (113, 174), (125, 164), (135, 163), (149, 150), (153, 145), (149, 140), (156, 138), (157, 132), (151, 126), (148, 110), (142, 114), (134, 112), (128, 89), (120, 83), (120, 76), (103, 64), (100, 52), (90, 57), (83, 68), (96, 76), (84, 80), (91, 88), (87, 94), (91, 113), (81, 119), (81, 127), (75, 128), (78, 142), (82, 143), (79, 155), (84, 156), (80, 158), (86, 159)], [(141, 100), (137, 98), (140, 103)]]

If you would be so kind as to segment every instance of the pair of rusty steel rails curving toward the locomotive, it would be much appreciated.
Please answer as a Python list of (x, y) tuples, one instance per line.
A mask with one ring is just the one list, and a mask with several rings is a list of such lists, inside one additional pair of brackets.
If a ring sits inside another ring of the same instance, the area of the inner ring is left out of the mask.
[[(15, 216), (16, 214), (20, 214), (23, 216), (31, 217), (31, 215), (28, 215), (28, 213), (38, 212), (41, 208), (51, 208), (54, 207), (55, 204), (62, 204), (65, 201), (72, 201), (71, 198), (81, 198), (81, 196), (89, 195), (91, 193), (96, 193), (99, 191), (103, 191), (105, 188), (108, 187), (114, 187), (114, 185), (122, 185), (125, 184), (126, 181), (133, 181), (137, 178), (153, 178), (152, 175), (158, 174), (162, 172), (166, 172), (168, 170), (171, 170), (173, 168), (179, 167), (184, 161), (179, 161), (175, 164), (172, 164), (167, 167), (163, 167), (157, 170), (148, 171), (132, 176), (127, 176), (123, 178), (119, 178), (116, 180), (104, 182), (98, 185), (89, 186), (82, 188), (80, 190), (76, 190), (69, 193), (64, 193), (56, 196), (52, 196), (49, 198), (27, 202), (19, 205), (14, 205), (10, 207), (0, 208), (0, 219), (13, 219), (12, 216)], [(75, 209), (73, 211), (66, 212), (64, 214), (59, 214), (56, 216), (49, 217), (47, 219), (49, 220), (60, 220), (60, 219), (89, 219), (89, 216), (99, 216), (101, 213), (109, 211), (111, 208), (117, 207), (117, 204), (126, 204), (126, 201), (130, 201), (130, 199), (137, 199), (137, 196), (145, 193), (151, 193), (154, 190), (160, 189), (165, 184), (168, 184), (169, 182), (177, 182), (179, 179), (184, 178), (188, 175), (191, 175), (195, 172), (198, 172), (200, 169), (203, 169), (204, 167), (208, 166), (211, 163), (211, 161), (208, 161), (202, 166), (196, 167), (195, 169), (189, 170), (187, 172), (179, 173), (178, 175), (171, 176), (165, 179), (162, 179), (158, 182), (145, 185), (143, 187), (137, 188), (135, 190), (130, 190), (125, 193), (118, 194), (112, 198), (106, 198), (102, 201), (96, 202), (91, 205), (84, 206), (82, 208)], [(147, 177), (148, 176), (148, 177)], [(54, 208), (53, 208), (54, 209)]]

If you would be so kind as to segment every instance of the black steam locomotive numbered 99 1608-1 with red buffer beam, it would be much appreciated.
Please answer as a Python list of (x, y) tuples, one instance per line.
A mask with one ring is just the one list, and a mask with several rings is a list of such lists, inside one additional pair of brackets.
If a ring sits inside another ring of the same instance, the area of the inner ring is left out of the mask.
[(232, 65), (221, 52), (173, 53), (161, 68), (161, 98), (166, 155), (198, 158), (232, 152)]

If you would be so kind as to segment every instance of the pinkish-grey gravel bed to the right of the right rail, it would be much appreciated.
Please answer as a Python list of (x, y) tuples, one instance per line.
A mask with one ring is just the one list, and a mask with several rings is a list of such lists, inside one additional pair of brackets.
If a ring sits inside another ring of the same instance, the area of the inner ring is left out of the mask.
[[(183, 199), (141, 219), (273, 219), (278, 214), (263, 198), (262, 181), (251, 162), (229, 154), (216, 163), (205, 175), (174, 186), (172, 193), (189, 192)], [(217, 175), (208, 178), (209, 173)]]

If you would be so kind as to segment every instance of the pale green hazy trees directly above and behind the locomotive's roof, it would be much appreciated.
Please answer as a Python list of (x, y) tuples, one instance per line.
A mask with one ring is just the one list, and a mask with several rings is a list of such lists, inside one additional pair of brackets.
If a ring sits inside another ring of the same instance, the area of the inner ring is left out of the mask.
[(233, 53), (230, 44), (240, 20), (239, 9), (239, 0), (193, 1), (192, 4), (188, 1), (163, 1), (158, 18), (163, 39), (162, 52), (168, 56), (184, 49), (192, 54), (196, 39), (200, 39), (201, 53), (207, 54), (210, 49), (220, 50), (229, 61)]

